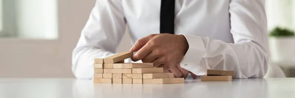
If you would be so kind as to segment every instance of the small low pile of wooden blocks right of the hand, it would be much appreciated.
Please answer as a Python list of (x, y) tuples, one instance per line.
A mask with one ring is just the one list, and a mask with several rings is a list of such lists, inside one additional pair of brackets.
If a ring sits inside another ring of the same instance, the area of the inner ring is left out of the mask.
[(232, 81), (234, 71), (207, 70), (206, 76), (201, 76), (201, 81)]

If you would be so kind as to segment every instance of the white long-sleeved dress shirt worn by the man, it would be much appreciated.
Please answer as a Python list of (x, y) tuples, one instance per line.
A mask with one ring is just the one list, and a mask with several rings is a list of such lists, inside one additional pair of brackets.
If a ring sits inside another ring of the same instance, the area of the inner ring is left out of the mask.
[[(175, 34), (189, 44), (180, 66), (197, 75), (232, 70), (235, 78), (263, 77), (268, 46), (264, 0), (176, 0)], [(77, 78), (93, 77), (93, 59), (116, 53), (125, 26), (132, 43), (157, 34), (161, 0), (96, 0), (73, 50)]]

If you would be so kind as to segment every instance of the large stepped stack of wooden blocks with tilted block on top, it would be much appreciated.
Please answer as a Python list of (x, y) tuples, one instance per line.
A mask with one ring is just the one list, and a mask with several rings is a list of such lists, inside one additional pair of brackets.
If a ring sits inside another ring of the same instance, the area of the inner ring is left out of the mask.
[(184, 83), (184, 78), (174, 78), (174, 73), (163, 73), (153, 63), (124, 63), (132, 52), (121, 52), (104, 59), (94, 59), (93, 83), (171, 84)]

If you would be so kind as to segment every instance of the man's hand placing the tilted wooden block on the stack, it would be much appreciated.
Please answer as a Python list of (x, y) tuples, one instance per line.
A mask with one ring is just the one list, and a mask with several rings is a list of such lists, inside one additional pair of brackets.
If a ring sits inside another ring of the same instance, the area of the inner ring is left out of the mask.
[(151, 34), (138, 40), (130, 49), (137, 51), (131, 59), (153, 63), (154, 67), (170, 70), (178, 65), (188, 49), (188, 43), (183, 35)]

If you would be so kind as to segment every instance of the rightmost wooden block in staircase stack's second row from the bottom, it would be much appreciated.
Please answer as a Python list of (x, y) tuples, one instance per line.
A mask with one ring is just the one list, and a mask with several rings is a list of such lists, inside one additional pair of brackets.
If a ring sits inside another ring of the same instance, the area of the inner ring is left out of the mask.
[(143, 78), (174, 78), (174, 73), (143, 73)]

